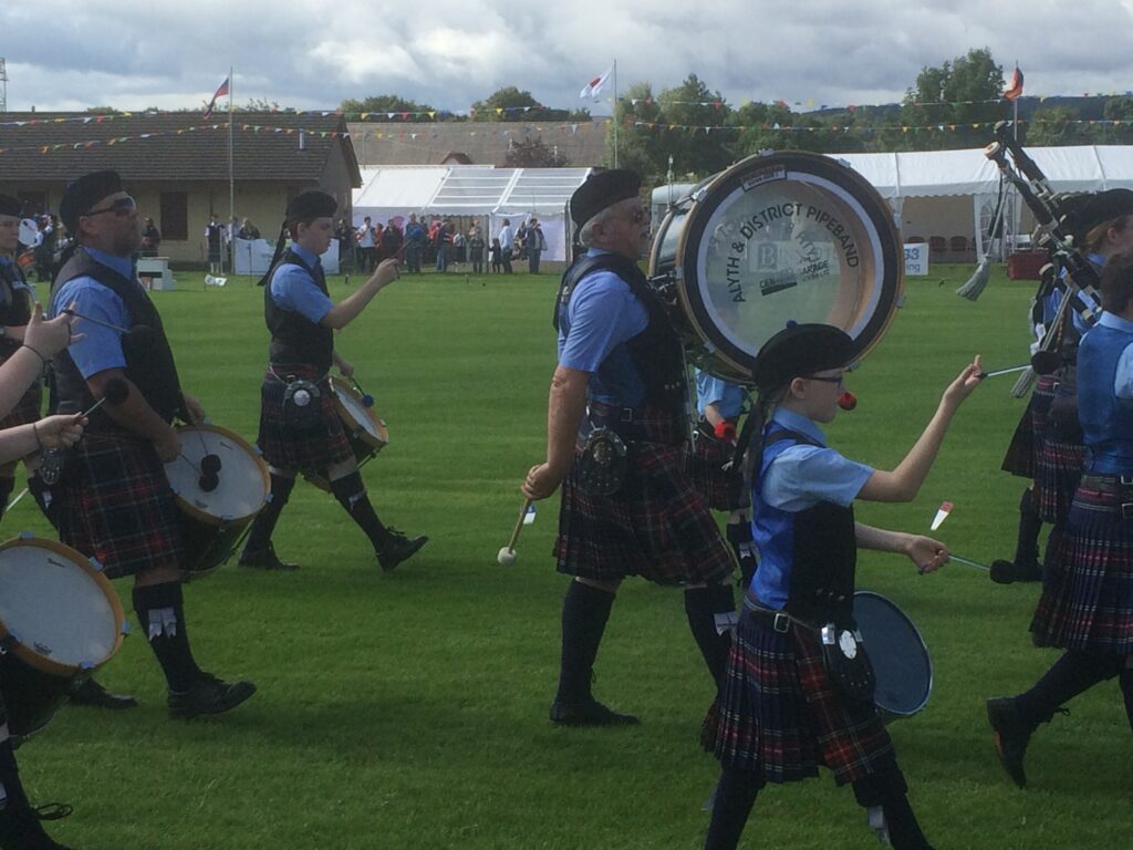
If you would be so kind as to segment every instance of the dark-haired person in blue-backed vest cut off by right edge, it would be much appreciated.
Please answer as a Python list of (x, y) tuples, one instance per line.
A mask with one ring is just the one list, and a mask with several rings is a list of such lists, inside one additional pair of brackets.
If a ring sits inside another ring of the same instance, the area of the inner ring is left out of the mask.
[(1047, 561), (1031, 632), (1063, 649), (1030, 688), (987, 702), (996, 751), (1026, 785), (1023, 757), (1040, 723), (1094, 685), (1118, 679), (1133, 729), (1133, 257), (1101, 273), (1104, 313), (1077, 351), (1077, 410), (1087, 462), (1065, 534)]

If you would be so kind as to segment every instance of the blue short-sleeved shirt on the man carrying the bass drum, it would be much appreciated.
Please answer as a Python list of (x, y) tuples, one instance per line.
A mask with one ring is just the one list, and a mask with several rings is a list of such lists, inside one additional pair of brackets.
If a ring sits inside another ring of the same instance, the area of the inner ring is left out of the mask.
[[(607, 252), (591, 248), (587, 256)], [(627, 342), (649, 325), (649, 312), (629, 284), (610, 271), (587, 274), (571, 294), (559, 329), (559, 365), (590, 373), (590, 398), (638, 407), (645, 384)]]

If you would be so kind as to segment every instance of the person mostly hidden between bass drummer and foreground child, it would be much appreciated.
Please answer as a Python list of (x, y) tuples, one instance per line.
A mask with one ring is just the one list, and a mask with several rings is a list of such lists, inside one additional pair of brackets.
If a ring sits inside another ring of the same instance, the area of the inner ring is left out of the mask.
[(727, 512), (725, 536), (740, 564), (740, 580), (747, 587), (756, 571), (751, 543), (751, 504), (743, 486), (743, 470), (732, 464), (736, 430), (744, 413), (748, 392), (739, 384), (693, 369), (697, 411), (700, 422), (692, 435), (689, 477), (708, 507)]

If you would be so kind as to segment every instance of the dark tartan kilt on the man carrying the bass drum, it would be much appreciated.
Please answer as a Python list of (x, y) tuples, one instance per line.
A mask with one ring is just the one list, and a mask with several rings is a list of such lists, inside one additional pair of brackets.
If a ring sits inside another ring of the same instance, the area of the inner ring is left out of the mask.
[[(600, 422), (591, 416), (591, 424)], [(633, 426), (649, 440), (627, 442), (625, 482), (613, 495), (579, 485), (576, 453), (562, 487), (559, 571), (596, 581), (641, 576), (661, 585), (726, 578), (734, 569), (732, 552), (684, 471), (688, 450), (675, 440), (676, 423), (658, 415), (638, 417)]]

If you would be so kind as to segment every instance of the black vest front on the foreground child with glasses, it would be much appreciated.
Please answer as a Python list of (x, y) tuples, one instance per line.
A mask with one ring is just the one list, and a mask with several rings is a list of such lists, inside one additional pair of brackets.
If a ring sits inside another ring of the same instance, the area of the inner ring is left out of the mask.
[[(804, 434), (777, 431), (764, 443), (782, 440), (819, 445)], [(819, 502), (794, 515), (794, 552), (786, 610), (810, 623), (853, 622), (858, 534), (853, 508)]]

